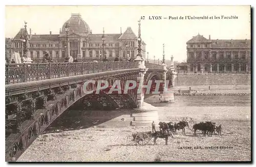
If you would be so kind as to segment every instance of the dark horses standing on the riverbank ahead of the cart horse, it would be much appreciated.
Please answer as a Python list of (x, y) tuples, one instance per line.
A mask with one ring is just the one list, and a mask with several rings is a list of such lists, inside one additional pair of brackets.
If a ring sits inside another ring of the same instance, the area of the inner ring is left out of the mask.
[[(169, 131), (172, 131), (174, 132), (175, 134), (177, 134), (177, 130), (181, 130), (182, 129), (182, 134), (186, 134), (185, 133), (185, 127), (188, 127), (188, 122), (186, 121), (180, 121), (179, 123), (172, 123), (172, 122), (169, 122), (169, 123), (165, 123), (165, 122), (159, 122), (159, 128), (160, 128), (160, 132), (163, 132), (164, 130), (166, 130), (167, 132)], [(222, 131), (222, 127), (221, 125), (219, 126), (216, 126), (216, 123), (215, 122), (200, 122), (198, 124), (195, 124), (193, 126), (193, 129), (194, 129), (194, 134), (196, 134), (197, 130), (202, 130), (202, 133), (203, 135), (206, 135), (207, 136), (212, 136), (212, 134), (215, 134), (215, 132), (217, 132), (219, 135), (221, 135), (221, 131)], [(192, 130), (193, 130), (192, 129)]]

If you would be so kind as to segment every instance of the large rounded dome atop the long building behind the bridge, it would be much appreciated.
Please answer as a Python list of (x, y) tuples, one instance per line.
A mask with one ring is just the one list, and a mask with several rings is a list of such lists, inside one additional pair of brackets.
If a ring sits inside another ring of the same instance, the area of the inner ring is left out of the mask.
[(70, 19), (66, 21), (62, 26), (62, 33), (66, 32), (65, 26), (67, 23), (69, 25), (69, 32), (89, 33), (91, 31), (89, 25), (81, 18), (80, 14), (71, 14)]

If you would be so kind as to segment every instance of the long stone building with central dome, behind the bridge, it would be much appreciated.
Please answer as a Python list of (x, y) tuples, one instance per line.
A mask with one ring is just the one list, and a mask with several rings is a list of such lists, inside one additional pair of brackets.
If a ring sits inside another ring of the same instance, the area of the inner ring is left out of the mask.
[[(68, 31), (66, 31), (68, 25)], [(68, 35), (67, 35), (68, 32)], [(20, 29), (18, 34), (6, 45), (6, 53), (10, 56), (10, 52), (19, 52), (22, 54), (24, 44), (20, 40), (21, 36), (26, 33), (25, 29)], [(115, 57), (125, 59), (127, 56), (136, 58), (138, 53), (138, 38), (132, 31), (131, 27), (127, 27), (124, 33), (119, 34), (92, 34), (89, 25), (81, 18), (80, 14), (71, 14), (59, 34), (37, 35), (28, 32), (29, 41), (27, 43), (27, 56), (34, 62), (41, 62), (44, 53), (48, 52), (53, 60), (63, 62), (67, 55), (77, 58), (78, 61), (92, 61), (102, 59), (104, 56), (110, 61)], [(104, 48), (102, 35), (104, 34)], [(67, 44), (68, 36), (68, 44)], [(142, 55), (145, 58), (145, 43), (141, 42)], [(67, 48), (66, 48), (67, 47)], [(67, 51), (66, 51), (67, 50)], [(104, 53), (103, 53), (104, 50)], [(67, 52), (67, 53), (66, 53)]]

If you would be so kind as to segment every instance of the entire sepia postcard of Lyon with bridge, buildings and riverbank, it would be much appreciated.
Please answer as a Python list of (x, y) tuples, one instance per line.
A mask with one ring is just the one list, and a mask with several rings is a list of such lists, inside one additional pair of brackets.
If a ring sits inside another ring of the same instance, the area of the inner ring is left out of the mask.
[(7, 162), (251, 162), (250, 6), (6, 6)]

